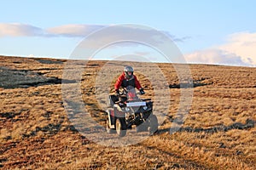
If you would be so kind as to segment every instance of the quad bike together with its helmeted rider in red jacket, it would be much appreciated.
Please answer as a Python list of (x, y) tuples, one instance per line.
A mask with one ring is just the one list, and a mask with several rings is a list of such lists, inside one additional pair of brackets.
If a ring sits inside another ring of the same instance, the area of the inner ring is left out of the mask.
[[(120, 93), (119, 88), (123, 91)], [(131, 66), (125, 66), (123, 73), (114, 84), (116, 95), (109, 95), (109, 107), (106, 111), (108, 119), (106, 129), (108, 133), (118, 133), (119, 137), (126, 134), (128, 128), (137, 127), (137, 132), (148, 131), (154, 133), (158, 129), (158, 120), (153, 115), (153, 102), (151, 99), (140, 99), (135, 91), (145, 94), (133, 75)]]

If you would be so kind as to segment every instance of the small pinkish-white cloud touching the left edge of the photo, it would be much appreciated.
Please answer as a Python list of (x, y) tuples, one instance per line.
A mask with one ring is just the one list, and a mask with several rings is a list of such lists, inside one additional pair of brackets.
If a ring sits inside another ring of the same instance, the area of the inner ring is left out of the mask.
[(44, 31), (36, 26), (11, 23), (3, 24), (0, 23), (0, 37), (33, 37), (33, 36), (43, 36)]

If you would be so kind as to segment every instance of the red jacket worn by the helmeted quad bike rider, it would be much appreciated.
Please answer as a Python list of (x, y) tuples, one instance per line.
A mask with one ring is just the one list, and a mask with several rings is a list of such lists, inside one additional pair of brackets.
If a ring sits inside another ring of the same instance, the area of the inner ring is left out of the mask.
[(142, 88), (140, 82), (138, 82), (137, 77), (135, 75), (133, 75), (131, 79), (127, 79), (125, 78), (125, 72), (123, 72), (115, 82), (114, 89), (117, 90), (121, 86), (126, 88), (127, 85), (133, 86), (134, 88), (137, 88), (137, 89)]

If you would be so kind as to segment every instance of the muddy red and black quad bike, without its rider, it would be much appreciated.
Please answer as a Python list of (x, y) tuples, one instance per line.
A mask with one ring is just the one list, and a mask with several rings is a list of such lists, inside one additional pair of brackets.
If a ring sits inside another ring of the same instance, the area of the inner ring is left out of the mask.
[(135, 88), (123, 88), (118, 95), (109, 96), (107, 132), (117, 133), (119, 137), (126, 135), (126, 130), (137, 127), (137, 132), (149, 131), (150, 134), (158, 129), (158, 120), (153, 115), (151, 99), (139, 99)]

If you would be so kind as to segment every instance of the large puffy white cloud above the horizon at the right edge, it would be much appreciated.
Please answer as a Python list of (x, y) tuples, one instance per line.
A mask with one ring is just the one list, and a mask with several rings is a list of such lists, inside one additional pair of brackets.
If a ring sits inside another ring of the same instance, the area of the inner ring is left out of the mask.
[(236, 33), (223, 45), (185, 54), (189, 63), (219, 65), (256, 65), (256, 33)]

